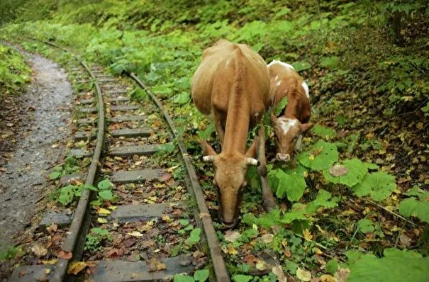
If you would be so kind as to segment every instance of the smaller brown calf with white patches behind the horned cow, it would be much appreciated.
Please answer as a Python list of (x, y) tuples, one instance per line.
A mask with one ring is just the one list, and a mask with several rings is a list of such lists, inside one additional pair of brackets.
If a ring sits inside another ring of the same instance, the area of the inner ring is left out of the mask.
[(276, 137), (276, 159), (288, 162), (295, 149), (301, 146), (304, 133), (310, 130), (314, 123), (310, 120), (310, 95), (305, 81), (295, 71), (294, 67), (280, 61), (268, 64), (270, 96), (273, 108), (287, 98), (287, 106), (279, 117), (271, 115), (271, 121)]

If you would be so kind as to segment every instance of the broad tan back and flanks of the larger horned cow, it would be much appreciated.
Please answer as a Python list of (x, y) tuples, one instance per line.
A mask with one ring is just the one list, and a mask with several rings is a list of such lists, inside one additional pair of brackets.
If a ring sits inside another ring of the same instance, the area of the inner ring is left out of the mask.
[[(269, 80), (262, 57), (247, 45), (218, 40), (204, 50), (202, 62), (192, 77), (192, 97), (201, 113), (210, 114), (213, 101), (228, 108), (230, 92), (237, 83), (237, 72), (243, 71), (238, 67), (243, 67), (245, 72), (244, 81), (240, 81), (245, 84), (244, 93), (257, 96), (265, 104), (269, 98)], [(255, 100), (255, 97), (249, 97), (249, 100)]]

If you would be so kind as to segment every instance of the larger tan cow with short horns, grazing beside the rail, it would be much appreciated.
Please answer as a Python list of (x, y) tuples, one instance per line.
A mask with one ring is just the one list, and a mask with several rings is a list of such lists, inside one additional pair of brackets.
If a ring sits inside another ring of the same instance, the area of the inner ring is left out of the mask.
[[(201, 142), (204, 162), (215, 169), (213, 184), (218, 191), (218, 215), (221, 222), (233, 227), (238, 222), (238, 208), (248, 166), (258, 166), (262, 181), (264, 207), (274, 208), (275, 200), (267, 184), (264, 130), (246, 152), (249, 129), (260, 122), (269, 99), (267, 67), (260, 55), (249, 46), (219, 40), (204, 50), (203, 60), (192, 77), (192, 98), (196, 108), (211, 115), (221, 139), (222, 152), (216, 154), (206, 141)], [(256, 159), (253, 159), (257, 155)]]

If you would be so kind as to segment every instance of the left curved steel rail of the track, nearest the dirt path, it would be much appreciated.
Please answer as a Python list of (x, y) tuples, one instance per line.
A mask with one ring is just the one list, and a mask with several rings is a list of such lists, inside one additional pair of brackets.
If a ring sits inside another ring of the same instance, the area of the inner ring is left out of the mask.
[[(99, 122), (98, 122), (98, 132), (96, 136), (96, 146), (94, 149), (94, 154), (92, 155), (91, 164), (89, 165), (87, 178), (85, 179), (85, 186), (93, 185), (94, 180), (96, 178), (97, 171), (99, 169), (101, 152), (104, 147), (104, 129), (106, 128), (104, 101), (103, 101), (103, 95), (101, 94), (101, 88), (99, 86), (99, 83), (97, 82), (94, 73), (91, 72), (91, 69), (89, 69), (87, 64), (83, 60), (81, 60), (77, 55), (75, 55), (73, 52), (70, 52), (69, 50), (63, 47), (60, 47), (58, 45), (55, 45), (54, 43), (50, 43), (45, 40), (39, 40), (37, 38), (30, 38), (30, 39), (45, 43), (46, 45), (50, 45), (52, 47), (56, 47), (57, 49), (60, 49), (64, 52), (68, 52), (79, 62), (79, 64), (82, 64), (82, 67), (84, 67), (84, 69), (87, 70), (88, 74), (94, 80), (97, 102), (98, 102), (97, 109), (98, 109), (98, 115), (99, 115)], [(50, 279), (49, 279), (50, 282), (64, 281), (67, 274), (69, 261), (71, 259), (80, 259), (74, 256), (74, 251), (77, 247), (76, 244), (79, 239), (79, 236), (82, 236), (81, 231), (82, 231), (82, 226), (84, 226), (84, 223), (85, 223), (84, 222), (85, 218), (89, 218), (87, 215), (89, 215), (89, 212), (90, 212), (89, 201), (91, 199), (91, 193), (92, 193), (91, 190), (83, 189), (82, 196), (79, 199), (79, 203), (77, 203), (77, 207), (73, 215), (72, 223), (69, 227), (69, 231), (67, 232), (67, 237), (65, 239), (65, 242), (63, 242), (61, 246), (61, 249), (63, 251), (72, 253), (72, 258), (70, 259), (58, 258), (58, 261), (55, 264), (55, 267), (50, 276)], [(85, 232), (85, 234), (86, 233), (87, 232)]]

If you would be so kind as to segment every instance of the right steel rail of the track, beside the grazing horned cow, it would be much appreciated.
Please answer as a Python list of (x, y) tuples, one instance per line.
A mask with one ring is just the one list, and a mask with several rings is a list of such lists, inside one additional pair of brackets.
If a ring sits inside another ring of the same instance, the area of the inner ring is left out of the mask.
[(189, 179), (191, 181), (191, 189), (192, 189), (191, 192), (194, 193), (194, 196), (196, 198), (196, 203), (200, 211), (200, 215), (201, 215), (200, 219), (202, 221), (204, 233), (206, 235), (208, 249), (213, 263), (213, 269), (216, 275), (216, 281), (219, 281), (219, 282), (230, 281), (228, 269), (226, 269), (225, 261), (223, 260), (223, 256), (221, 253), (221, 248), (219, 247), (220, 244), (219, 244), (218, 236), (216, 235), (216, 230), (213, 227), (211, 216), (208, 213), (208, 208), (206, 205), (206, 200), (204, 198), (204, 193), (201, 189), (201, 186), (199, 185), (199, 179), (198, 179), (198, 176), (196, 176), (196, 172), (194, 169), (194, 165), (192, 164), (191, 157), (189, 157), (188, 151), (186, 150), (184, 143), (181, 140), (179, 140), (179, 135), (176, 130), (176, 127), (174, 126), (174, 122), (172, 118), (169, 116), (169, 114), (167, 113), (167, 111), (165, 111), (160, 100), (158, 100), (158, 98), (152, 93), (152, 91), (150, 91), (149, 87), (143, 84), (143, 81), (141, 81), (135, 74), (131, 73), (129, 75), (142, 89), (146, 91), (146, 93), (150, 96), (152, 101), (157, 105), (157, 107), (162, 112), (162, 115), (164, 115), (164, 118), (167, 121), (169, 128), (171, 128), (174, 137), (177, 139), (177, 144), (179, 146), (180, 152), (182, 153), (182, 159), (184, 161), (186, 170), (188, 171)]

